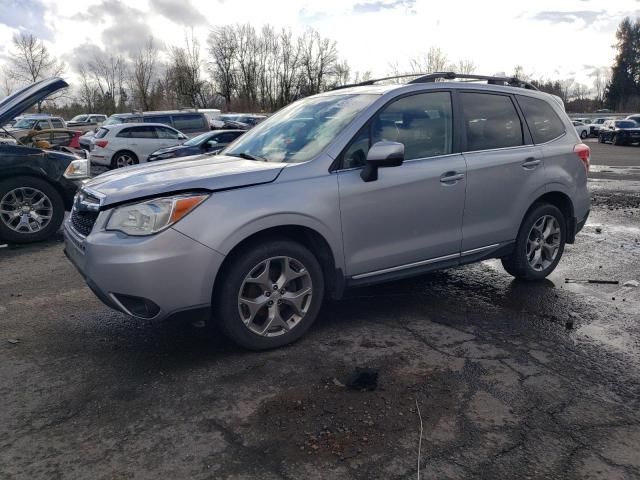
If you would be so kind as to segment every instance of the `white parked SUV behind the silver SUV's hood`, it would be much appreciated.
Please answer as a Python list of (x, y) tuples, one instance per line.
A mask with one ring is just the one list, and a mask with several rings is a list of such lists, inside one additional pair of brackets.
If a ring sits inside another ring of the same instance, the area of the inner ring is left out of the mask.
[(181, 145), (184, 133), (160, 123), (120, 123), (103, 125), (91, 138), (89, 158), (95, 165), (121, 168), (147, 161), (161, 148)]

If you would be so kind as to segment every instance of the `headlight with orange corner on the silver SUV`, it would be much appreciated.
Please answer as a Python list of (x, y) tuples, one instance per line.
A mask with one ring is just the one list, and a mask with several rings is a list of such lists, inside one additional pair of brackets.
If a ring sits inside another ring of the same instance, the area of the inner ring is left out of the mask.
[(176, 223), (208, 197), (200, 193), (186, 194), (124, 205), (114, 209), (106, 229), (127, 235), (153, 235)]

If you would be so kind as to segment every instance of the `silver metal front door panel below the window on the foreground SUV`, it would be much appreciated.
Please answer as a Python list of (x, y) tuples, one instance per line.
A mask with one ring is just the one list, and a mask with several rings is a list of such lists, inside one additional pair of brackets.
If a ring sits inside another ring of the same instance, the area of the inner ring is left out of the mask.
[(409, 160), (364, 182), (360, 170), (338, 173), (348, 275), (405, 265), (460, 251), (465, 179), (462, 155)]

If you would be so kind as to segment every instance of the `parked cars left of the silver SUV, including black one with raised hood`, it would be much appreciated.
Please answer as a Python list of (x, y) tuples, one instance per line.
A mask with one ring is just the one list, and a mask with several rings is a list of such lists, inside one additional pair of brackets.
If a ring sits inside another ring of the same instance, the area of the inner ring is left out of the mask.
[(22, 115), (66, 86), (49, 79), (0, 102), (1, 241), (39, 241), (57, 232), (92, 162), (117, 168), (215, 154), (265, 118), (219, 110), (84, 114), (68, 122)]

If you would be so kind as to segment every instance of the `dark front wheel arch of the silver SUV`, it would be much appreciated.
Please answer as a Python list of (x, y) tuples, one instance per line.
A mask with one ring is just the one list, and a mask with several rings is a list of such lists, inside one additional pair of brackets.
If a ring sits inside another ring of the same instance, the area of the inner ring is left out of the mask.
[(219, 279), (224, 275), (226, 268), (252, 245), (271, 240), (271, 239), (287, 239), (297, 242), (311, 251), (320, 265), (325, 280), (325, 288), (332, 298), (338, 299), (344, 291), (344, 274), (342, 269), (336, 262), (335, 254), (327, 239), (316, 229), (299, 224), (277, 225), (264, 228), (246, 236), (239, 241), (225, 256), (216, 280), (213, 284), (212, 298), (215, 298), (216, 292), (220, 287)]

